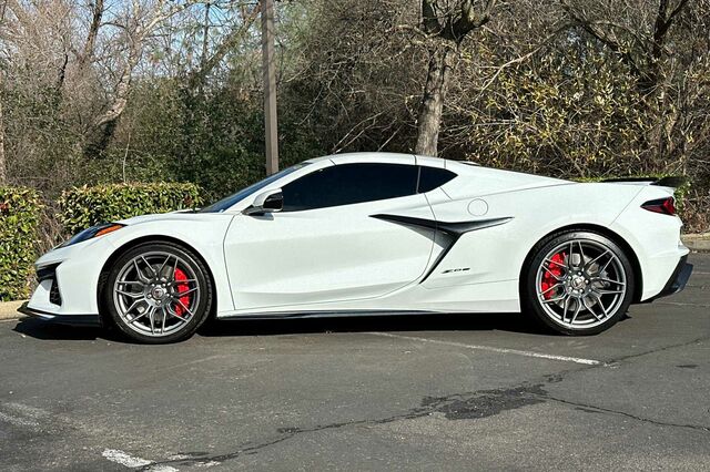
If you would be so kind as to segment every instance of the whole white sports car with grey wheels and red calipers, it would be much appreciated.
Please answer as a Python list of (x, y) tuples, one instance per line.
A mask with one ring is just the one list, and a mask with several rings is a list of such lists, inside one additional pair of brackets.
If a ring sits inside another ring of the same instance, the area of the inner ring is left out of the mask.
[(598, 334), (682, 289), (672, 182), (575, 183), (406, 154), (306, 161), (196, 212), (88, 228), (22, 310), (143, 342), (227, 318), (530, 314)]

